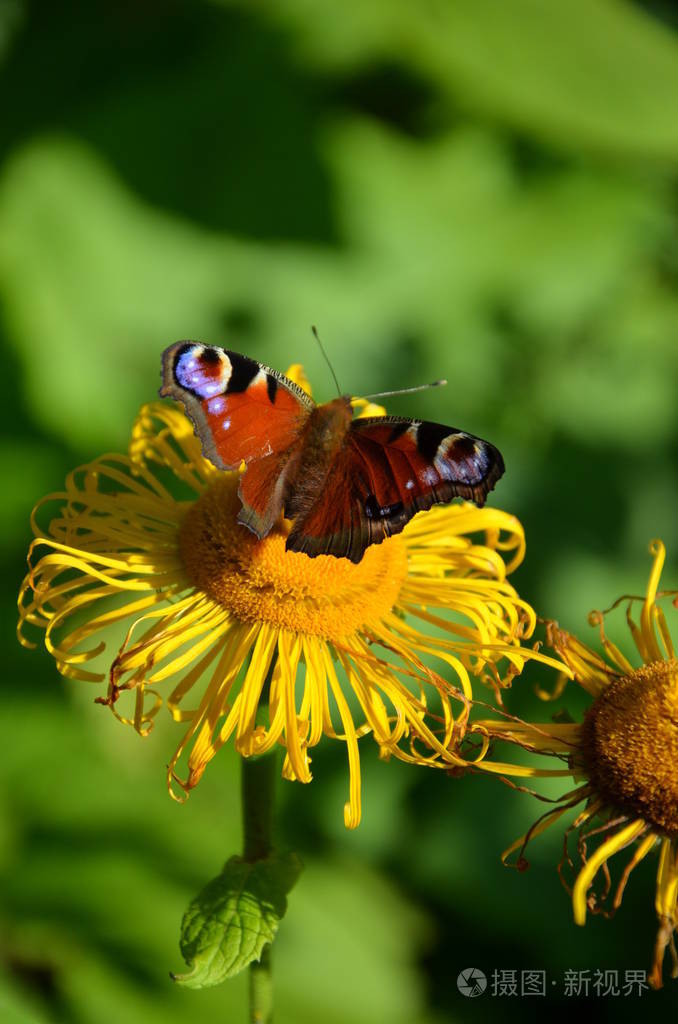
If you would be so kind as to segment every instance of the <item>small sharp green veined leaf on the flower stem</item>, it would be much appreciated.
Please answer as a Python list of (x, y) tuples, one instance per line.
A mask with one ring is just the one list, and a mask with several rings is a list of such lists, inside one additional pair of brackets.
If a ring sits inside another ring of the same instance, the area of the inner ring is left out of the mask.
[(226, 861), (183, 915), (179, 945), (190, 970), (172, 979), (187, 988), (206, 988), (260, 959), (263, 947), (276, 938), (287, 893), (300, 870), (294, 853)]

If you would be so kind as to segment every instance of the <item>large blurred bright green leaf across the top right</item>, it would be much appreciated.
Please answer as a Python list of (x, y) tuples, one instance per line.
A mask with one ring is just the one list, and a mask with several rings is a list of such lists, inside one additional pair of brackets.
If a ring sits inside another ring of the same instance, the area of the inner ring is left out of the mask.
[(268, 0), (267, 8), (294, 27), (313, 65), (396, 59), (455, 105), (558, 146), (678, 159), (678, 42), (625, 0), (349, 0), (331, 9)]

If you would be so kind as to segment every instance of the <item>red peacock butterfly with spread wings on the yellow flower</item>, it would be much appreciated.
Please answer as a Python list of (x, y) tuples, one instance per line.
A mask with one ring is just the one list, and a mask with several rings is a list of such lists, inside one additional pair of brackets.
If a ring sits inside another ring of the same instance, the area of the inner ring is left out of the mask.
[(284, 513), (287, 549), (311, 557), (359, 562), (423, 509), (457, 497), (482, 505), (504, 472), (498, 450), (473, 434), (354, 419), (349, 396), (317, 406), (278, 371), (214, 345), (170, 345), (160, 394), (183, 403), (218, 469), (245, 463), (239, 522), (261, 539)]

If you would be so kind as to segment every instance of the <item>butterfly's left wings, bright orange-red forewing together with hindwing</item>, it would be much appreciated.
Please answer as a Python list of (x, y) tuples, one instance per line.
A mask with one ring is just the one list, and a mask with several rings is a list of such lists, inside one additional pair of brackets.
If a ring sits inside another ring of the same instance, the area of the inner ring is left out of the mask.
[(255, 359), (194, 341), (163, 353), (160, 393), (182, 402), (205, 458), (218, 469), (248, 464), (239, 519), (264, 537), (282, 511), (285, 478), (315, 408), (312, 398)]

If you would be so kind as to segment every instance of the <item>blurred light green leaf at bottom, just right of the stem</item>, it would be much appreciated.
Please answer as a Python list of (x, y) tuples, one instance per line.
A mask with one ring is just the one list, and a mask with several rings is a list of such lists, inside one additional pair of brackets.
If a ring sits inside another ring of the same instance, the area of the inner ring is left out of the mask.
[[(300, 795), (308, 797), (307, 790)], [(412, 855), (402, 834), (399, 846)], [(273, 952), (276, 1020), (419, 1024), (426, 993), (418, 962), (431, 944), (433, 924), (406, 896), (411, 876), (400, 887), (353, 857), (328, 853), (304, 861), (294, 912)]]

